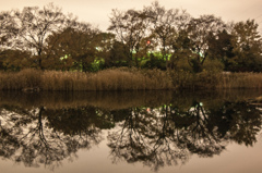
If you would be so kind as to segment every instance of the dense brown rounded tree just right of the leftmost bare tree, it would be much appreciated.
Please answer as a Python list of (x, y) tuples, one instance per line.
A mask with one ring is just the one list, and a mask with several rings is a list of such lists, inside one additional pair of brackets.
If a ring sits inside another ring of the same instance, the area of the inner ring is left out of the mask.
[[(53, 48), (52, 61), (57, 62), (57, 65), (62, 65), (60, 67), (69, 70), (74, 66), (81, 71), (88, 71), (98, 55), (99, 42), (103, 38), (99, 34), (100, 32), (91, 24), (78, 22), (73, 27), (50, 35), (47, 49)], [(52, 65), (50, 61), (47, 61), (48, 64)]]

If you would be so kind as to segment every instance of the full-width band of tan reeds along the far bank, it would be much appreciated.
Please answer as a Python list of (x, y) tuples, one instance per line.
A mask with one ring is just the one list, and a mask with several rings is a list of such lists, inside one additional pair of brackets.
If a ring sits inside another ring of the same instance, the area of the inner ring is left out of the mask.
[(262, 88), (261, 73), (109, 69), (97, 73), (23, 70), (0, 73), (0, 90), (151, 90)]

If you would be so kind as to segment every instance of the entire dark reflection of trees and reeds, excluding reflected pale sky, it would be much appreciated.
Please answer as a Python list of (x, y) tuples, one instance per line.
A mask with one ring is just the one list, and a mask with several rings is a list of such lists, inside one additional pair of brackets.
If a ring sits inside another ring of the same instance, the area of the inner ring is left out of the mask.
[(157, 171), (184, 164), (191, 155), (219, 155), (233, 141), (252, 146), (262, 122), (249, 92), (0, 95), (0, 156), (26, 166), (55, 169), (107, 140), (105, 157), (112, 162), (141, 162)]

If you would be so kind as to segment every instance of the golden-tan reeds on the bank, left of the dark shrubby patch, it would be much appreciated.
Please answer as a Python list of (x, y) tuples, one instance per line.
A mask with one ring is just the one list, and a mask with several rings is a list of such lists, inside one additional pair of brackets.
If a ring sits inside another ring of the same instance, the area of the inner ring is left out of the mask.
[(97, 73), (23, 70), (19, 73), (0, 73), (1, 90), (148, 90), (171, 89), (166, 72), (138, 69), (110, 69)]

